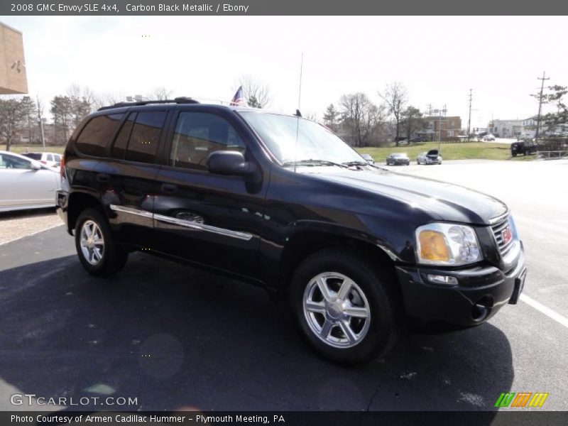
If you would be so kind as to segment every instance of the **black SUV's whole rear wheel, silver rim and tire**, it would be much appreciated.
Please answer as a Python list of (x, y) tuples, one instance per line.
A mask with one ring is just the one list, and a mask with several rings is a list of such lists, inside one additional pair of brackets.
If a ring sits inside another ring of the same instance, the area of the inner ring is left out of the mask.
[(75, 226), (75, 248), (92, 275), (111, 275), (126, 263), (128, 253), (112, 239), (107, 219), (97, 209), (85, 209)]

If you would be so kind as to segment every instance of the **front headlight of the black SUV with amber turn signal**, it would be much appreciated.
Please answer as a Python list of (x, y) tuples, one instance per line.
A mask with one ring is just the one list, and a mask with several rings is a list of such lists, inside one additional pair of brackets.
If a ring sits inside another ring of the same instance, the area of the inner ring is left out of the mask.
[(416, 229), (418, 263), (460, 266), (481, 261), (479, 241), (471, 226), (433, 223)]

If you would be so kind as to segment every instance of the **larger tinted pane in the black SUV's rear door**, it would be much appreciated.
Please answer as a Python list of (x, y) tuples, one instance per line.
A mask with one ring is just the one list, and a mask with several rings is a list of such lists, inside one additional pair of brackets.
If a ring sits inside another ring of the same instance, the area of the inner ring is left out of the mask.
[(153, 163), (165, 114), (165, 111), (138, 113), (126, 149), (126, 160)]

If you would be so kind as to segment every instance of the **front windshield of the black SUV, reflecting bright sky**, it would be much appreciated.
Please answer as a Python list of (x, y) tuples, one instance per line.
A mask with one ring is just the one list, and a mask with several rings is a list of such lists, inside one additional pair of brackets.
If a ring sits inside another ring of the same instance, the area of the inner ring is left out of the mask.
[(361, 155), (332, 131), (314, 121), (253, 111), (241, 112), (241, 116), (261, 136), (280, 163), (306, 160), (365, 163)]

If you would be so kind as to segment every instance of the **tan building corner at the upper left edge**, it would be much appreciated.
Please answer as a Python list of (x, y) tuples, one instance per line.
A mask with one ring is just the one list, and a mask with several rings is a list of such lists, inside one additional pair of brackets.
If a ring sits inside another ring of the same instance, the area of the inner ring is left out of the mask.
[(22, 33), (0, 22), (0, 94), (28, 93)]

